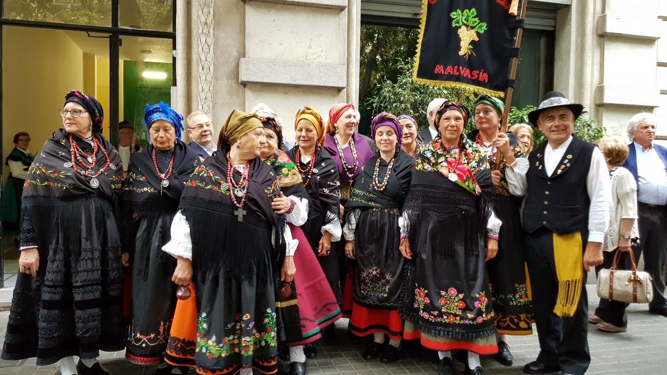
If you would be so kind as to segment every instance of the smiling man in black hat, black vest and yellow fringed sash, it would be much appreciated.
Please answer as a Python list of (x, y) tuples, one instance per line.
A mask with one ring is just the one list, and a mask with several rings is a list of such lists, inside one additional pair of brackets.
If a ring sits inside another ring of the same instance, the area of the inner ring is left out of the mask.
[(602, 264), (611, 188), (600, 149), (572, 135), (583, 109), (552, 91), (528, 114), (547, 142), (528, 156), (524, 189), (524, 252), (540, 340), (526, 374), (582, 375), (590, 364), (586, 271)]

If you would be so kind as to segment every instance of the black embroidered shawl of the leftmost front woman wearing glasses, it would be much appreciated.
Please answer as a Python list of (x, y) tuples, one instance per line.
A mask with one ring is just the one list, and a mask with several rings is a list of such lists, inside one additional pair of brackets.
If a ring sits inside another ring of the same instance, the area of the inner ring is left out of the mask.
[[(89, 154), (92, 152), (92, 145), (79, 137), (74, 135), (72, 137), (83, 152)], [(114, 211), (109, 212), (109, 214), (117, 214), (123, 180), (121, 157), (102, 135), (93, 133), (93, 137), (107, 151), (110, 159), (109, 167), (97, 177), (97, 181), (99, 181), (99, 187), (97, 188), (91, 187), (90, 179), (79, 175), (72, 169), (69, 133), (65, 130), (59, 129), (53, 132), (53, 137), (48, 139), (37, 153), (33, 164), (28, 169), (28, 175), (23, 185), (21, 246), (37, 245), (35, 230), (43, 230), (44, 228), (35, 228), (35, 226), (54, 227), (56, 226), (55, 218), (76, 220), (77, 218), (72, 218), (70, 215), (61, 215), (61, 208), (66, 201), (96, 195), (109, 202)], [(102, 151), (98, 150), (97, 164), (93, 167), (93, 174), (104, 167), (106, 162)], [(80, 164), (77, 167), (83, 169)], [(48, 204), (46, 204), (44, 198), (48, 198)], [(35, 205), (35, 209), (28, 209), (28, 207)], [(63, 222), (58, 222), (57, 225), (66, 227), (68, 223), (63, 220)], [(43, 240), (47, 240), (47, 238), (43, 238)], [(41, 244), (41, 247), (43, 246), (44, 244)]]

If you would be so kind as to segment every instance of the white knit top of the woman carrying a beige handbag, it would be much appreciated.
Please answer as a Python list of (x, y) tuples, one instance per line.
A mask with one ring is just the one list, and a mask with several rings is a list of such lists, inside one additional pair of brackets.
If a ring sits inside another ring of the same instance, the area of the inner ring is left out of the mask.
[(612, 200), (609, 204), (609, 229), (604, 238), (602, 250), (612, 251), (618, 248), (621, 236), (621, 219), (634, 218), (630, 238), (639, 236), (637, 228), (637, 183), (632, 173), (623, 167), (618, 167), (612, 173)]

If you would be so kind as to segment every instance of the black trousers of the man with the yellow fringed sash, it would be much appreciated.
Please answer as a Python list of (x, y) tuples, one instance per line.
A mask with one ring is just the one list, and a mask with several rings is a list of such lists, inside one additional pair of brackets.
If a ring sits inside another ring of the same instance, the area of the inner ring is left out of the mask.
[[(581, 298), (574, 315), (561, 317), (554, 314), (558, 276), (553, 236), (554, 232), (544, 227), (532, 233), (524, 232), (524, 256), (528, 265), (533, 310), (540, 340), (537, 360), (547, 366), (560, 366), (560, 370), (568, 374), (582, 375), (590, 364), (586, 272)], [(582, 242), (585, 248), (586, 239), (582, 238)]]

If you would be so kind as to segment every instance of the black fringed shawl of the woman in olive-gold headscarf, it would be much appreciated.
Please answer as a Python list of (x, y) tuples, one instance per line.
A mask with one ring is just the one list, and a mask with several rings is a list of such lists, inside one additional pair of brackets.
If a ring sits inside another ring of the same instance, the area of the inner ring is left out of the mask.
[[(190, 227), (194, 278), (207, 272), (224, 272), (243, 278), (263, 274), (262, 248), (268, 240), (273, 274), (279, 276), (285, 256), (285, 218), (273, 214), (271, 201), (279, 195), (273, 170), (261, 159), (250, 161), (249, 187), (243, 210), (247, 214), (238, 221), (227, 184), (227, 152), (218, 148), (195, 169), (181, 195), (179, 211)], [(241, 173), (234, 169), (233, 179), (238, 182)], [(237, 197), (240, 202), (241, 198)], [(266, 238), (262, 238), (267, 234)], [(272, 235), (271, 235), (272, 234)], [(271, 238), (272, 237), (272, 238)]]

